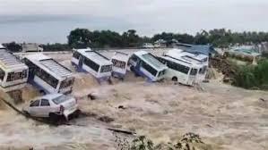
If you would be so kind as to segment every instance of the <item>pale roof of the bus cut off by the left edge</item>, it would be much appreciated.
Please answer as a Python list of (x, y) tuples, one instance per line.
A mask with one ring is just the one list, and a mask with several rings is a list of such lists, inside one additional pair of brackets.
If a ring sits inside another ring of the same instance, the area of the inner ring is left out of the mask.
[(26, 64), (5, 49), (0, 49), (0, 67), (3, 69), (28, 69)]

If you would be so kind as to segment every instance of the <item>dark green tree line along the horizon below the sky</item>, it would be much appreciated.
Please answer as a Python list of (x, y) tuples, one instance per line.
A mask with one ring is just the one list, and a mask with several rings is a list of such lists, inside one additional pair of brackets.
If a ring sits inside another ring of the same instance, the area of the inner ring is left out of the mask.
[[(153, 43), (159, 39), (165, 40), (167, 46), (176, 42), (196, 45), (212, 45), (228, 47), (232, 45), (255, 45), (268, 42), (268, 32), (233, 32), (230, 29), (202, 30), (195, 35), (187, 33), (162, 32), (152, 37), (139, 36), (134, 29), (128, 29), (122, 34), (111, 30), (73, 29), (67, 36), (67, 44), (44, 44), (44, 51), (63, 51), (72, 48), (110, 48), (139, 47), (143, 43)], [(20, 45), (12, 42), (4, 44), (13, 52), (20, 51)]]

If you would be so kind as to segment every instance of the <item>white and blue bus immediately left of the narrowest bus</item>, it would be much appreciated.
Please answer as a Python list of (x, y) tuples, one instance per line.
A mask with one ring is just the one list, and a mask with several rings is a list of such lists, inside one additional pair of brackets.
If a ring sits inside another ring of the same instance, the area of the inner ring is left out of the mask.
[(89, 72), (99, 81), (108, 80), (112, 73), (112, 63), (107, 57), (87, 49), (73, 50), (72, 64), (77, 71)]

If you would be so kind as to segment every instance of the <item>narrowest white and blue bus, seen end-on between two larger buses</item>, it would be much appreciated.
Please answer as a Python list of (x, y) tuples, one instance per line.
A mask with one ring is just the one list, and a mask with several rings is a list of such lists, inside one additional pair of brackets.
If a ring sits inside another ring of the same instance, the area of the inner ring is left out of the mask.
[(119, 79), (124, 79), (127, 70), (127, 63), (129, 60), (129, 54), (123, 52), (115, 52), (111, 61), (113, 63), (112, 76)]

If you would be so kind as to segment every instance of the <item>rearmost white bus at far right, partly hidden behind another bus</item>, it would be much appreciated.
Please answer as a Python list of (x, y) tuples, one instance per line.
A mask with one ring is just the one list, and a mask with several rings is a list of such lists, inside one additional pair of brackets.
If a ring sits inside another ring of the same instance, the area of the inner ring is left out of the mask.
[(208, 65), (209, 65), (209, 56), (205, 54), (198, 54), (198, 53), (189, 53), (186, 51), (182, 51), (180, 49), (173, 49), (169, 50), (167, 54), (164, 55), (169, 55), (169, 56), (174, 56), (177, 59), (181, 59), (182, 61), (186, 61), (189, 63), (195, 63), (201, 68), (198, 70), (198, 74), (196, 77), (196, 82), (201, 82), (205, 79), (206, 72), (208, 70)]

